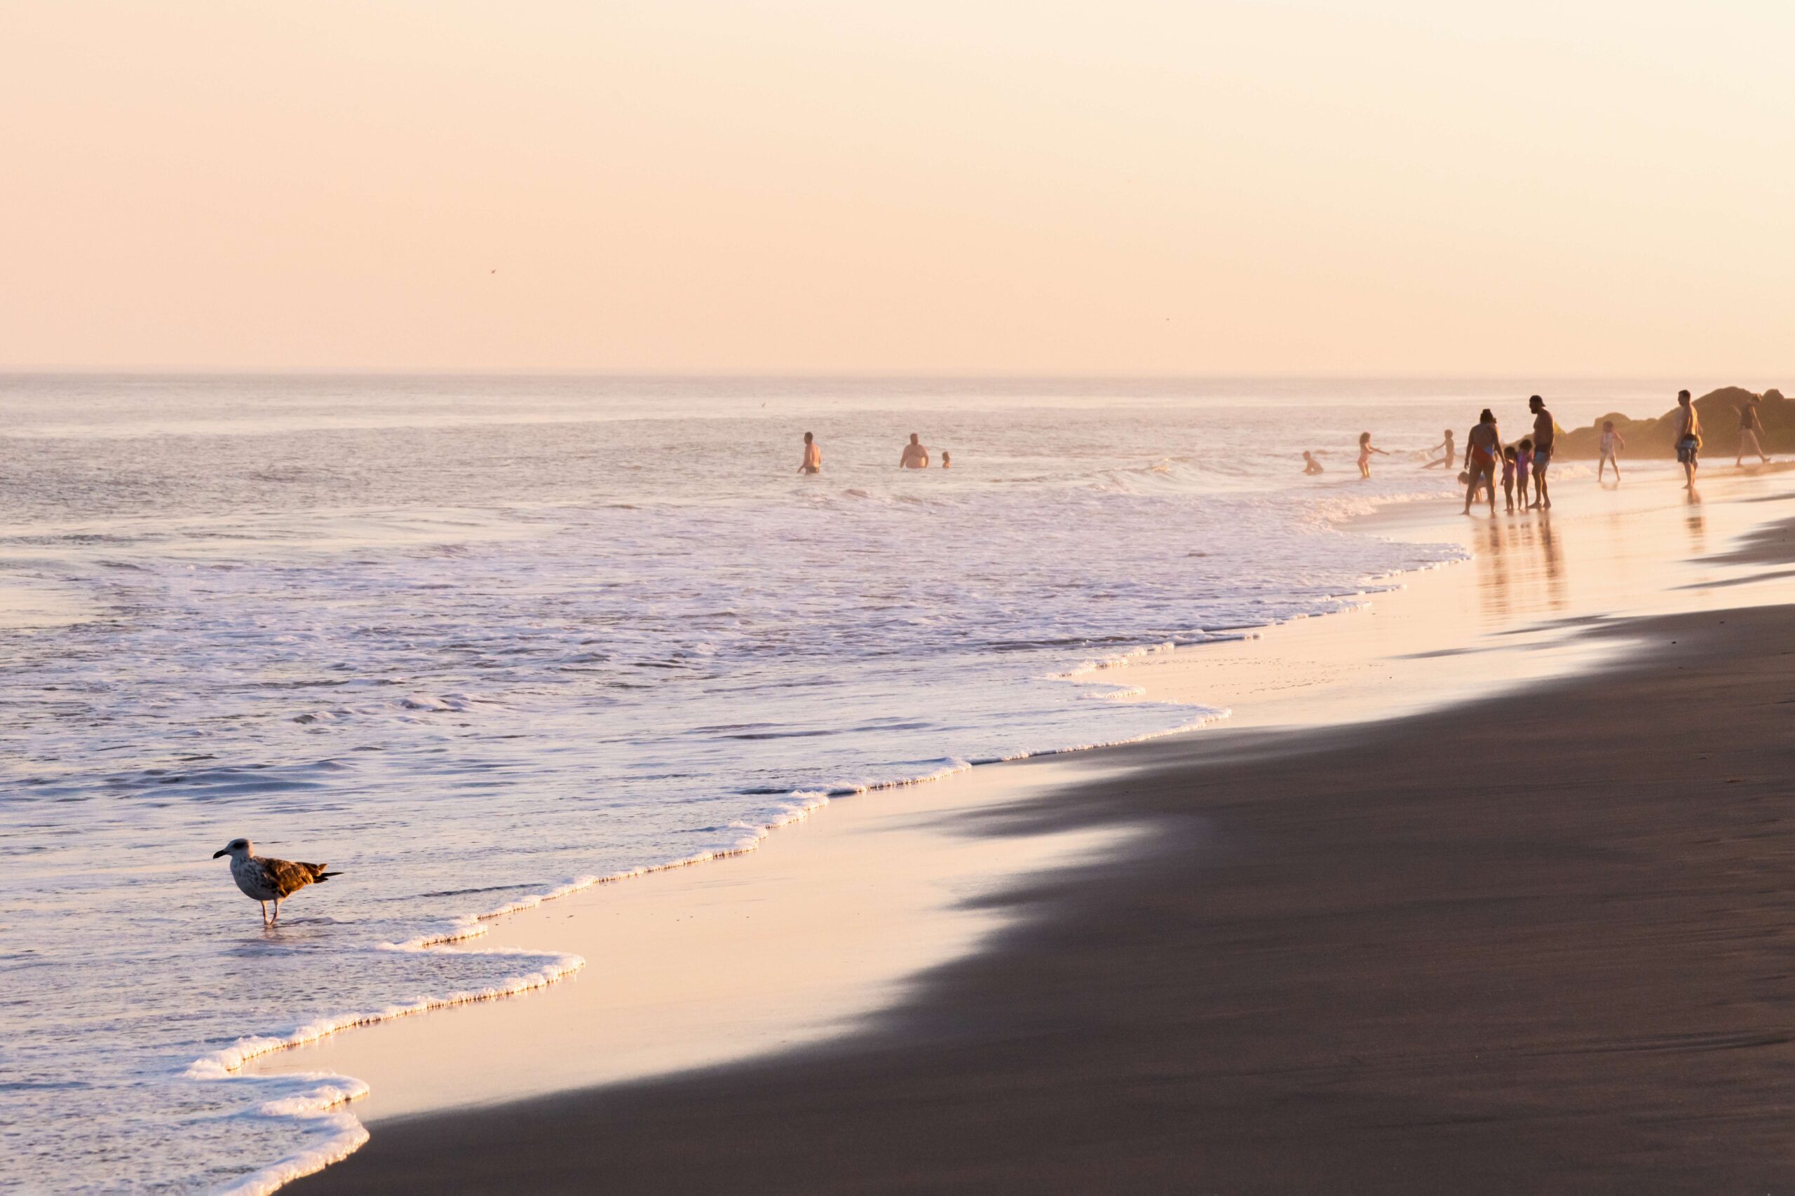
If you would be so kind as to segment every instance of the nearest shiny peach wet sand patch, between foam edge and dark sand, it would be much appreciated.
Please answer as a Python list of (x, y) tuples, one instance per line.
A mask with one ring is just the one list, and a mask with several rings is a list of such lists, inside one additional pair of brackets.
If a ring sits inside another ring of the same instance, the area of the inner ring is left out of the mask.
[(1077, 757), (831, 802), (750, 854), (598, 884), (495, 918), (465, 947), (587, 959), (567, 979), (361, 1026), (246, 1070), (354, 1076), (370, 1088), (354, 1114), (379, 1128), (853, 1033), (915, 975), (1007, 925), (991, 898), (1018, 877), (1113, 855), (1134, 834), (989, 837), (966, 823), (968, 810), (1002, 818), (1100, 775)]

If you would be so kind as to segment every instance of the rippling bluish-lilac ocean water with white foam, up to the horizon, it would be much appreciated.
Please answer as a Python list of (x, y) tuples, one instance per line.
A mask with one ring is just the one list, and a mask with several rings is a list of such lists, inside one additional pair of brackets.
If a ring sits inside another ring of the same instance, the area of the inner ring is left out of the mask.
[[(0, 1187), (266, 1191), (357, 1081), (242, 1058), (582, 965), (438, 947), (483, 914), (1222, 717), (1102, 665), (1452, 559), (1339, 522), (1526, 389), (0, 378)], [(237, 836), (343, 875), (264, 931)]]

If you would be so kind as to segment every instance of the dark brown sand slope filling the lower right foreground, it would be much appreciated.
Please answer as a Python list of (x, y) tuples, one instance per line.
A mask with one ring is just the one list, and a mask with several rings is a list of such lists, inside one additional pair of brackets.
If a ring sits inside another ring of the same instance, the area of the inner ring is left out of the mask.
[(1791, 1191), (1795, 608), (1592, 633), (1641, 646), (1118, 750), (1030, 816), (1152, 854), (1021, 895), (865, 1035), (384, 1122), (296, 1191)]

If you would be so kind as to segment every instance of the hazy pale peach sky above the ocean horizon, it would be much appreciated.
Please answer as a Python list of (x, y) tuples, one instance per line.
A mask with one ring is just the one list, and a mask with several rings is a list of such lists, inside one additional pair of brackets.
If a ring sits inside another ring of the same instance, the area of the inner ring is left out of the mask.
[(1791, 50), (1790, 0), (0, 0), (0, 368), (1790, 386)]

